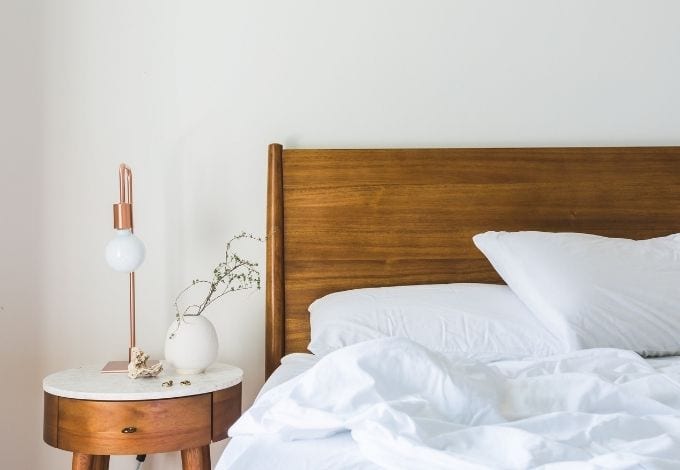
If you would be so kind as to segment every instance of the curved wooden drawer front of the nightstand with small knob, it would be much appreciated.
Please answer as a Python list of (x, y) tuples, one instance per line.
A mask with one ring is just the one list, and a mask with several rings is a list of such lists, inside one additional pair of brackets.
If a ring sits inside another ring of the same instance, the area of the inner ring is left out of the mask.
[(210, 444), (212, 394), (166, 400), (59, 398), (60, 449), (94, 455), (152, 454)]

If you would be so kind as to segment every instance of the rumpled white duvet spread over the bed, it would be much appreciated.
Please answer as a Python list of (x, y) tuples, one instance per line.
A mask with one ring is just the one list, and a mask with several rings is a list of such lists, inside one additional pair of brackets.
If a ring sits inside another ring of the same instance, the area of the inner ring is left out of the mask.
[(680, 468), (680, 373), (590, 349), (482, 364), (359, 343), (264, 393), (232, 436), (351, 433), (392, 469)]

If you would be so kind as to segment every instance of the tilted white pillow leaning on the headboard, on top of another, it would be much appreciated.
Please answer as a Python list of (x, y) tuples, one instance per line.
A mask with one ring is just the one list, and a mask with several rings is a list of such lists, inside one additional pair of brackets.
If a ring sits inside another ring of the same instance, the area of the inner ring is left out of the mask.
[(520, 300), (572, 348), (680, 353), (680, 234), (635, 241), (486, 232), (473, 240)]

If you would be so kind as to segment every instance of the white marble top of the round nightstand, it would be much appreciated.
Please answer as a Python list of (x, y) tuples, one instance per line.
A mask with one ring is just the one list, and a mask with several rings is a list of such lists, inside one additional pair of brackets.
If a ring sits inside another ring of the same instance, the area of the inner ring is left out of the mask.
[[(229, 388), (241, 382), (243, 371), (215, 363), (201, 374), (182, 375), (163, 363), (157, 377), (131, 379), (126, 373), (101, 373), (102, 364), (67, 369), (43, 379), (43, 390), (52, 395), (81, 400), (126, 401), (177, 398)], [(173, 381), (172, 387), (163, 382)], [(181, 385), (188, 380), (191, 385)]]

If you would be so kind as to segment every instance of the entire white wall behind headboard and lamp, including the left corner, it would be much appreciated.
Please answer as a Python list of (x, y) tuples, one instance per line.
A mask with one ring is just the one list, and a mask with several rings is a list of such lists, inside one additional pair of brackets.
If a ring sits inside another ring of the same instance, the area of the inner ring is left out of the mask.
[[(264, 233), (272, 141), (680, 144), (672, 0), (10, 3), (0, 306), (12, 332), (0, 331), (5, 360), (21, 351), (29, 372), (10, 369), (7, 396), (21, 406), (3, 411), (0, 440), (0, 458), (27, 460), (3, 468), (68, 468), (40, 441), (40, 378), (125, 353), (126, 279), (102, 258), (120, 161), (135, 171), (148, 248), (138, 342), (159, 356), (177, 291), (231, 234)], [(263, 380), (263, 306), (256, 293), (209, 313), (221, 360), (246, 371), (246, 405)], [(145, 468), (177, 462), (153, 456)]]

